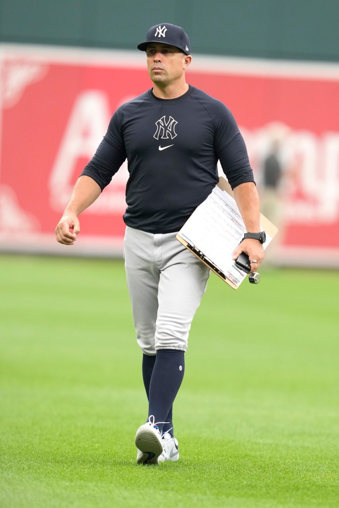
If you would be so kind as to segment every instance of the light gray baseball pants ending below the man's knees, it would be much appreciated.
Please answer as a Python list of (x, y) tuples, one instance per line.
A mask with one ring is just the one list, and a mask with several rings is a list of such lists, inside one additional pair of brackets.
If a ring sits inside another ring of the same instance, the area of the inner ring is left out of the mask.
[(126, 227), (124, 259), (137, 342), (146, 355), (186, 351), (209, 268), (175, 238)]

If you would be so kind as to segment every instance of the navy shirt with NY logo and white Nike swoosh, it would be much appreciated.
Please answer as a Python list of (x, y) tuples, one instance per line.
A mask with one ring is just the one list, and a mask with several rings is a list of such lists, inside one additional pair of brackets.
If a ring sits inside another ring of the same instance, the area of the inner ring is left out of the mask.
[(82, 175), (104, 189), (128, 161), (125, 223), (149, 233), (178, 231), (219, 181), (253, 182), (246, 147), (229, 109), (189, 87), (177, 99), (152, 90), (120, 106)]

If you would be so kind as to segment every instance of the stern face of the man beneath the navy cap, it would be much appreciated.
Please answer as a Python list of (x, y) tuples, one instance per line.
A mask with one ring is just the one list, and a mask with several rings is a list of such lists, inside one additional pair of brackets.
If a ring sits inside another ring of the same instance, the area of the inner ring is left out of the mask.
[(187, 55), (179, 48), (167, 44), (150, 43), (146, 56), (148, 74), (154, 83), (171, 84), (182, 77), (187, 67)]

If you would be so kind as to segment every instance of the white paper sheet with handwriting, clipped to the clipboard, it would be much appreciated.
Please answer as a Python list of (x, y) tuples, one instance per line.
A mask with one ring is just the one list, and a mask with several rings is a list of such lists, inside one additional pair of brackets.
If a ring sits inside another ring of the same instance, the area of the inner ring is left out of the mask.
[[(232, 257), (245, 232), (234, 198), (216, 186), (192, 213), (178, 236), (203, 252), (207, 261), (238, 287), (248, 273), (239, 268)], [(271, 240), (266, 231), (264, 248)]]

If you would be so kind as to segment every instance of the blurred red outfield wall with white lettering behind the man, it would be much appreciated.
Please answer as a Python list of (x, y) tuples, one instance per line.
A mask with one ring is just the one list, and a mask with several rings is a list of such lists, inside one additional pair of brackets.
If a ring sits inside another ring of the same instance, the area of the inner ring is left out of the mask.
[[(114, 110), (151, 86), (145, 55), (4, 44), (0, 70), (0, 249), (121, 255), (126, 164), (80, 216), (76, 245), (54, 228)], [(259, 189), (279, 136), (280, 260), (339, 266), (339, 65), (195, 56), (187, 80), (233, 112)]]

